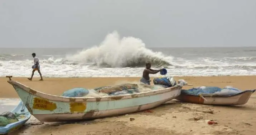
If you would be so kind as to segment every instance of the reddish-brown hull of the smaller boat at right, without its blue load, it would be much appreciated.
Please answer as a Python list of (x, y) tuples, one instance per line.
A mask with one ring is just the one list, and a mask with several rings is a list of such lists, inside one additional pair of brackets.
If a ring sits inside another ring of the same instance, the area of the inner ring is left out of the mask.
[(229, 97), (203, 96), (180, 94), (176, 99), (182, 102), (208, 105), (242, 105), (246, 104), (254, 91), (246, 91)]

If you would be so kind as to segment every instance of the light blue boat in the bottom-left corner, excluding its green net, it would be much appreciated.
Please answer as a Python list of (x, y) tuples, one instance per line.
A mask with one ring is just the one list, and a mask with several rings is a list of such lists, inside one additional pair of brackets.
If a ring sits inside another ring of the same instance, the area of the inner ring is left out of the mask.
[(0, 134), (9, 134), (15, 130), (18, 130), (21, 126), (23, 126), (26, 121), (29, 120), (31, 114), (29, 113), (28, 109), (25, 107), (22, 101), (11, 111), (13, 114), (19, 114), (16, 118), (18, 121), (14, 123), (10, 123), (6, 126), (0, 126)]

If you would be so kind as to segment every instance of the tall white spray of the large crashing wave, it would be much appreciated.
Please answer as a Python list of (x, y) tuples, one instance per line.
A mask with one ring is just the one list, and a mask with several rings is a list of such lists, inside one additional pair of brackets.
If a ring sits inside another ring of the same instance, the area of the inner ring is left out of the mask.
[(151, 62), (154, 67), (171, 66), (173, 57), (147, 49), (139, 38), (120, 38), (114, 31), (108, 34), (99, 46), (83, 50), (67, 59), (78, 63), (91, 63), (99, 67), (116, 68), (144, 67), (146, 62)]

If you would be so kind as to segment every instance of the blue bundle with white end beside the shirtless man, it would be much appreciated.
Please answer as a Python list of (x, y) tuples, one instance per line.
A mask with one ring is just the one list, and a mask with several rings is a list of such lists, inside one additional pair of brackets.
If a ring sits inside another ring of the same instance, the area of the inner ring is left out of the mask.
[(173, 77), (161, 77), (161, 78), (154, 78), (153, 79), (154, 84), (161, 84), (161, 85), (166, 85), (168, 87), (172, 87), (176, 85), (176, 81), (174, 80)]

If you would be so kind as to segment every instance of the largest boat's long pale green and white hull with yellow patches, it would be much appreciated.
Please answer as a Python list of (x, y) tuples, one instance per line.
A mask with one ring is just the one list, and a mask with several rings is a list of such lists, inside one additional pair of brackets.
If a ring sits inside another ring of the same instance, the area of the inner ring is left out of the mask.
[(135, 94), (104, 97), (62, 97), (39, 92), (9, 78), (29, 112), (38, 120), (57, 122), (88, 120), (147, 110), (180, 95), (182, 85), (140, 92)]

